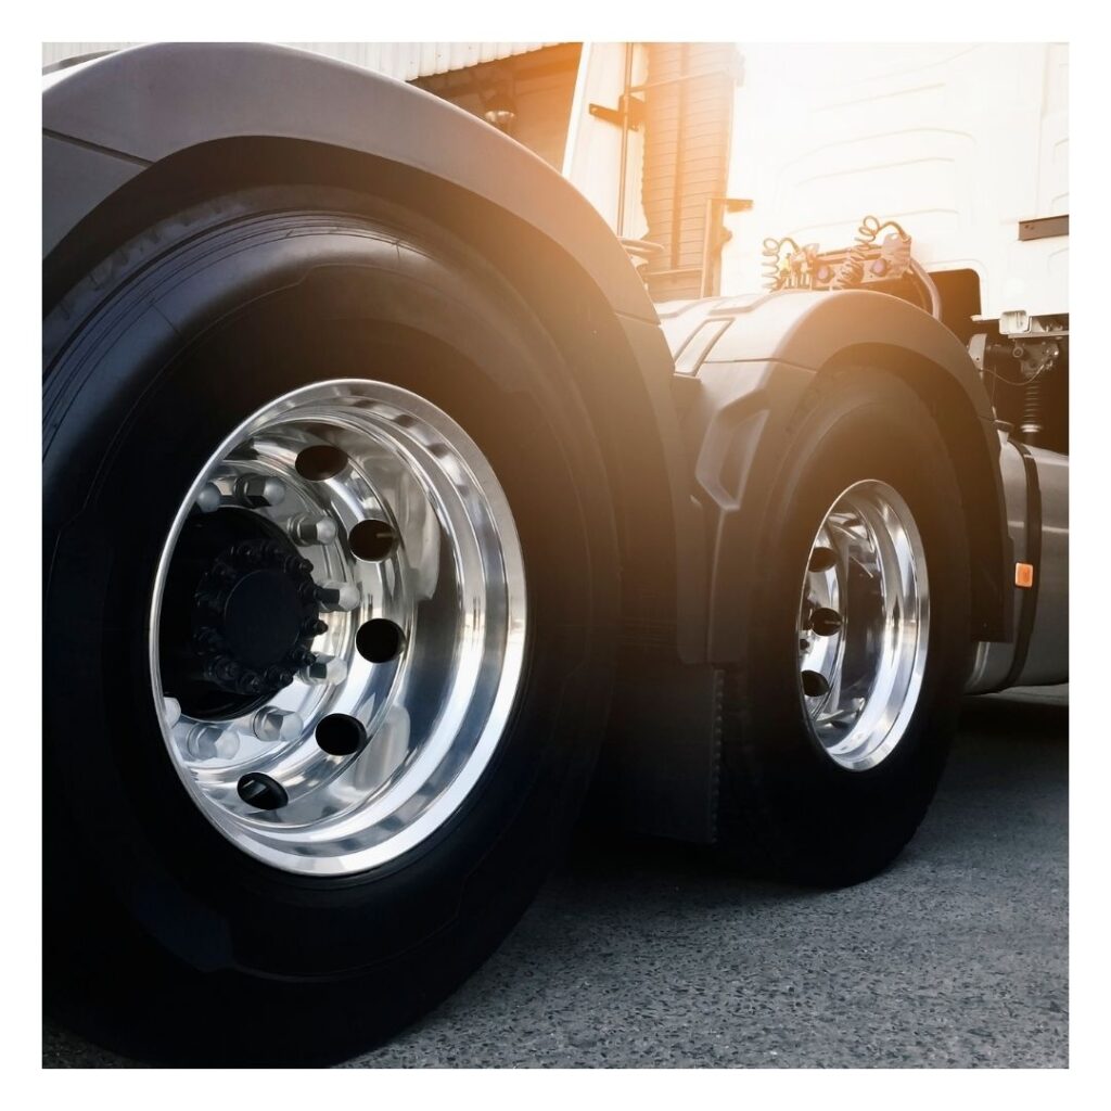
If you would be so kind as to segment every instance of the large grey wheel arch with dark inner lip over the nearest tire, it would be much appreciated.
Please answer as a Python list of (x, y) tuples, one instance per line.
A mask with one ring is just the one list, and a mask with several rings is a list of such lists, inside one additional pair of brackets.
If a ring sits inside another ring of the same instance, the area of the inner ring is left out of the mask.
[(658, 620), (663, 605), (690, 625), (700, 538), (671, 357), (620, 243), (547, 163), (403, 82), (287, 48), (154, 44), (57, 77), (43, 98), (48, 310), (131, 237), (232, 189), (330, 184), (432, 218), (509, 279), (575, 376), (614, 494), (624, 611)]

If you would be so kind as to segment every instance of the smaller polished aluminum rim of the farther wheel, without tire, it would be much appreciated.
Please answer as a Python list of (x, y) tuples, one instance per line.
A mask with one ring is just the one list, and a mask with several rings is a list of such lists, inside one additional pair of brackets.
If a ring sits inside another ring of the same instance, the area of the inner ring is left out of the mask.
[(800, 698), (831, 760), (863, 771), (891, 754), (918, 705), (929, 633), (913, 514), (885, 482), (857, 482), (814, 537), (799, 608)]

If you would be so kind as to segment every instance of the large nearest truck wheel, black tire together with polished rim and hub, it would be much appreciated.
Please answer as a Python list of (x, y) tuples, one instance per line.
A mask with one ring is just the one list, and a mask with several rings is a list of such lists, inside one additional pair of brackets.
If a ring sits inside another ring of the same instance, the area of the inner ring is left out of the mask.
[(90, 1039), (338, 1061), (510, 930), (604, 723), (590, 419), (420, 217), (274, 188), (46, 321), (44, 979)]

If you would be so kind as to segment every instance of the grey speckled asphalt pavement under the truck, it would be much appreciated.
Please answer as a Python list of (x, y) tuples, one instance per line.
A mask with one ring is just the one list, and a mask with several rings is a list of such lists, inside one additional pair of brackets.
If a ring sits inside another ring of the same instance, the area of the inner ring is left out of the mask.
[[(1068, 688), (969, 699), (883, 875), (740, 878), (581, 840), (498, 953), (347, 1068), (1068, 1064)], [(128, 1067), (48, 1024), (43, 1065)]]

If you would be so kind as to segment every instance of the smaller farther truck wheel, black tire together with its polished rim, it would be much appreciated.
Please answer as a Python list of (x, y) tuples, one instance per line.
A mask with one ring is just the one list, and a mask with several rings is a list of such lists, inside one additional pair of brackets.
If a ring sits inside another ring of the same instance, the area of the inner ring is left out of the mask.
[(747, 662), (724, 691), (723, 840), (763, 874), (874, 875), (925, 814), (969, 661), (960, 488), (891, 374), (828, 372), (769, 500)]

